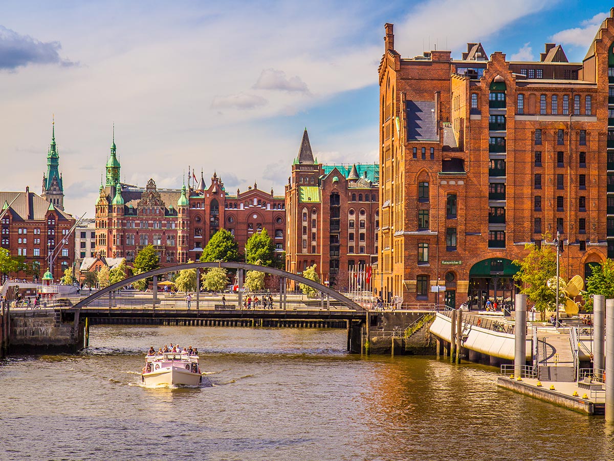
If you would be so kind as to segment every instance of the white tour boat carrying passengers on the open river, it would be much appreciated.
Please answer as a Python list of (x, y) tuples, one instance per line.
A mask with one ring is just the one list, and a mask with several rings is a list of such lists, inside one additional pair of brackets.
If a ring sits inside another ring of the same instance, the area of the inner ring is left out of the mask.
[(147, 387), (197, 386), (201, 382), (198, 355), (178, 352), (147, 355), (141, 379)]

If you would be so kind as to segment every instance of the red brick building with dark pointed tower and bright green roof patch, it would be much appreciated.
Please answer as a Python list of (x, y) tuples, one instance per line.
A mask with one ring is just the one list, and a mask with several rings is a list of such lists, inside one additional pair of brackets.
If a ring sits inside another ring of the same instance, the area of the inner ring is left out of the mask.
[(286, 185), (286, 270), (301, 274), (317, 264), (322, 282), (341, 289), (349, 268), (373, 264), (378, 178), (377, 164), (318, 163), (305, 130)]

